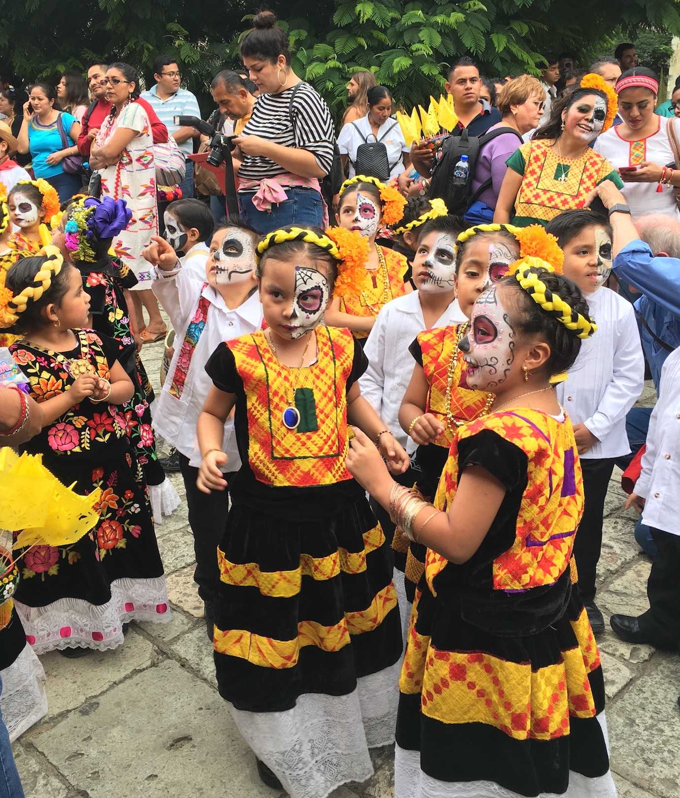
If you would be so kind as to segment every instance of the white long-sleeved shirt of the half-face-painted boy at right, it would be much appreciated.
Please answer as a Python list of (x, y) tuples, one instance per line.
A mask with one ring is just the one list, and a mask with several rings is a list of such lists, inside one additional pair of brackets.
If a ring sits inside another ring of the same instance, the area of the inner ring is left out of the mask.
[(584, 424), (598, 442), (580, 455), (585, 460), (619, 457), (631, 447), (626, 413), (635, 405), (645, 378), (645, 362), (635, 312), (630, 302), (609, 288), (587, 294), (597, 323), (557, 396), (573, 424)]

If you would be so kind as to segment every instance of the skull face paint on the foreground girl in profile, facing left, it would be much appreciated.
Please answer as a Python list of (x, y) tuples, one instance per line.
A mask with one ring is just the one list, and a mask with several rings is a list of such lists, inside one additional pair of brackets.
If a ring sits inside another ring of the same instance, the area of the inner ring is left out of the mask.
[(475, 302), (470, 329), (458, 346), (468, 364), (461, 388), (492, 391), (508, 377), (515, 359), (515, 332), (496, 286), (485, 290)]

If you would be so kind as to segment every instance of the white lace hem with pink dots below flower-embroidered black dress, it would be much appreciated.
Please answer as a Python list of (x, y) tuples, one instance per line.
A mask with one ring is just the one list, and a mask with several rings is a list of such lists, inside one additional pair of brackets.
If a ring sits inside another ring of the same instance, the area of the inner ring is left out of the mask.
[(164, 576), (116, 579), (111, 583), (111, 599), (101, 605), (84, 599), (57, 599), (47, 606), (18, 601), (14, 606), (36, 654), (65, 648), (117, 648), (123, 642), (124, 623), (170, 620)]

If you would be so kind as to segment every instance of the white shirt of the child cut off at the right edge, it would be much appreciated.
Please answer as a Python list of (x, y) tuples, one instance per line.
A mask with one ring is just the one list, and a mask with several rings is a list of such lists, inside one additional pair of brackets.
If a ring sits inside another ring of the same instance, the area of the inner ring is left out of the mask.
[(635, 493), (646, 500), (642, 523), (680, 535), (680, 348), (663, 364), (641, 465)]

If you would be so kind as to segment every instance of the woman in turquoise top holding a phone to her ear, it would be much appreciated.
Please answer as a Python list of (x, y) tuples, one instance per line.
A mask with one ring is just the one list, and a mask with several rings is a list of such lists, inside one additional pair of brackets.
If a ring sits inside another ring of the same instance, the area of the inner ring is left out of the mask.
[(81, 188), (81, 176), (66, 171), (64, 160), (79, 156), (76, 142), (81, 123), (70, 113), (61, 111), (57, 93), (47, 83), (30, 87), (28, 102), (18, 135), (18, 151), (30, 152), (36, 180), (43, 178), (53, 186), (60, 202), (65, 202)]

